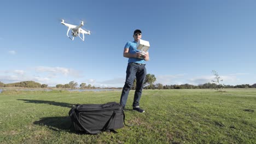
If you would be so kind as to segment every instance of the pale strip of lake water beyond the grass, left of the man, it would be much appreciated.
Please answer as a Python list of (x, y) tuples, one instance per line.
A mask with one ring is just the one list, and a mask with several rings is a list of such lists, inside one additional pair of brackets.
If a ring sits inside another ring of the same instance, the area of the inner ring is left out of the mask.
[[(17, 91), (53, 91), (53, 89), (16, 89)], [(103, 91), (121, 91), (121, 89), (65, 89), (69, 92), (103, 92)], [(3, 89), (0, 89), (0, 93)]]

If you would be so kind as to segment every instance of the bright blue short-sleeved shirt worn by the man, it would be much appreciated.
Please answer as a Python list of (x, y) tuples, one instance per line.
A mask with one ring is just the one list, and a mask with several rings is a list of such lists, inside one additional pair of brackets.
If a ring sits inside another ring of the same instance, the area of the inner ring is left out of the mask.
[[(125, 44), (124, 49), (129, 48), (129, 53), (134, 54), (136, 52), (139, 52), (139, 50), (137, 50), (136, 45), (137, 45), (137, 41), (129, 41)], [(145, 64), (145, 61), (144, 61), (144, 59), (132, 57), (132, 58), (128, 59), (128, 63), (142, 63), (142, 64)]]

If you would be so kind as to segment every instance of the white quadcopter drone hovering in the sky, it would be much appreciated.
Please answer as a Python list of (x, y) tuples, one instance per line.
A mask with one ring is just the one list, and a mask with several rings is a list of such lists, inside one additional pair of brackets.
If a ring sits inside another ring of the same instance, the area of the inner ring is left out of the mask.
[(82, 21), (81, 24), (78, 25), (78, 26), (74, 26), (74, 25), (65, 23), (64, 20), (62, 20), (61, 23), (62, 23), (63, 25), (65, 25), (65, 26), (68, 27), (67, 36), (68, 36), (68, 32), (70, 31), (70, 29), (72, 29), (71, 34), (73, 35), (73, 38), (70, 38), (70, 37), (68, 36), (68, 38), (71, 39), (71, 40), (74, 40), (74, 37), (77, 37), (77, 36), (78, 36), (80, 39), (82, 39), (82, 38), (80, 37), (80, 33), (82, 33), (82, 34), (83, 34), (83, 39), (82, 39), (82, 40), (84, 41), (84, 34), (90, 34), (90, 31), (86, 32), (84, 29), (81, 28), (82, 26), (84, 26), (84, 21)]

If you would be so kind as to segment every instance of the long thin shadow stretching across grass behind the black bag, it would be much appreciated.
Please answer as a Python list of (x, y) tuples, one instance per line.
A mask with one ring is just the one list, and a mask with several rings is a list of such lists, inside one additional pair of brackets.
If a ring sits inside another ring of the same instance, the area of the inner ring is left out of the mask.
[(56, 106), (69, 107), (69, 108), (75, 105), (75, 104), (60, 103), (60, 102), (48, 101), (48, 100), (31, 100), (31, 99), (18, 99), (18, 100), (26, 101), (25, 103), (49, 104), (49, 105), (56, 105)]

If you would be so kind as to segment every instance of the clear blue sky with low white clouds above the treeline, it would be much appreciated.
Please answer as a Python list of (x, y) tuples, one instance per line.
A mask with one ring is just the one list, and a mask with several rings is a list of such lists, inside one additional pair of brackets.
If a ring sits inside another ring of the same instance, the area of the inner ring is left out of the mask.
[[(256, 1), (3, 1), (0, 81), (123, 87), (124, 45), (150, 43), (147, 72), (163, 85), (256, 83)], [(85, 41), (66, 36), (84, 20)]]

